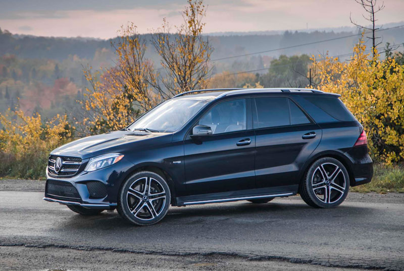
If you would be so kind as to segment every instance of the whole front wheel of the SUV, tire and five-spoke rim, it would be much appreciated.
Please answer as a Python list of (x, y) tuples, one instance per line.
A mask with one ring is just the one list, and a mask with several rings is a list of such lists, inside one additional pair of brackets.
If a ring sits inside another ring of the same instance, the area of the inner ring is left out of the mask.
[(170, 207), (171, 193), (166, 180), (150, 171), (131, 175), (118, 195), (118, 213), (126, 221), (149, 226), (162, 220)]

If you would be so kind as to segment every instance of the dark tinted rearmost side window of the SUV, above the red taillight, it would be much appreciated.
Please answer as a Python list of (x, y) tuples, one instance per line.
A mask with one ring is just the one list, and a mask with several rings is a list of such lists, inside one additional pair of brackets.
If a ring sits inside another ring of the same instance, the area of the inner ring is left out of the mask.
[(343, 102), (336, 97), (305, 97), (305, 99), (327, 112), (333, 118), (341, 121), (357, 120)]

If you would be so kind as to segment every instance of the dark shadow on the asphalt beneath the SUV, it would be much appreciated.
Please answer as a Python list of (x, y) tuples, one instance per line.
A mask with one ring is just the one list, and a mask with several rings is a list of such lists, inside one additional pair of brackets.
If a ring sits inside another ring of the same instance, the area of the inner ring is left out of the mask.
[(226, 202), (223, 204), (207, 204), (187, 207), (171, 207), (166, 217), (158, 224), (148, 227), (136, 227), (124, 219), (118, 213), (103, 212), (97, 216), (85, 217), (71, 214), (66, 220), (58, 223), (59, 227), (66, 229), (91, 228), (94, 231), (108, 231), (118, 229), (144, 229), (149, 230), (160, 227), (177, 226), (203, 226), (206, 224), (221, 222), (226, 224), (244, 223), (255, 224), (271, 223), (282, 220), (311, 220), (327, 218), (343, 218), (355, 215), (360, 218), (368, 216), (371, 208), (339, 206), (333, 209), (316, 209), (296, 200), (268, 202), (267, 204), (252, 204), (246, 201)]

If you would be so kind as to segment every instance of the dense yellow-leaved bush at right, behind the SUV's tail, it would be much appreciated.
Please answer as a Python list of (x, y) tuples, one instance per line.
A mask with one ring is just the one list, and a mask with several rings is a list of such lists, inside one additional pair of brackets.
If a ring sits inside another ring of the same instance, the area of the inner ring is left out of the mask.
[(363, 124), (373, 158), (386, 163), (404, 159), (404, 66), (393, 58), (365, 53), (363, 39), (348, 61), (328, 54), (319, 61), (319, 88), (341, 94), (341, 100)]

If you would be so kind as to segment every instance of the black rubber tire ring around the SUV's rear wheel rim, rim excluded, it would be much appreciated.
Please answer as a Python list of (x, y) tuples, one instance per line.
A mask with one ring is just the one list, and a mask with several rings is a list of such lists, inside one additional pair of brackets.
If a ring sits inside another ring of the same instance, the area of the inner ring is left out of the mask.
[[(320, 166), (321, 164), (327, 163), (327, 162), (337, 165), (342, 170), (342, 173), (344, 174), (344, 177), (345, 177), (345, 191), (344, 191), (342, 197), (340, 199), (338, 199), (337, 201), (331, 203), (331, 204), (327, 204), (327, 203), (321, 201), (316, 196), (316, 194), (314, 193), (314, 191), (312, 189), (312, 177), (313, 177), (313, 174), (314, 174), (315, 170), (317, 169), (318, 166)], [(337, 159), (334, 159), (334, 158), (331, 158), (331, 157), (321, 158), (321, 159), (317, 160), (316, 162), (314, 162), (310, 166), (310, 168), (309, 168), (309, 170), (308, 170), (308, 172), (307, 172), (307, 174), (305, 176), (304, 181), (305, 181), (305, 188), (306, 188), (307, 195), (310, 197), (310, 199), (313, 201), (313, 203), (316, 205), (316, 207), (319, 207), (319, 208), (334, 208), (334, 207), (337, 207), (338, 205), (340, 205), (345, 200), (346, 196), (348, 195), (348, 191), (349, 191), (349, 174), (348, 174), (348, 171), (346, 170), (345, 166), (341, 162), (339, 162)]]

